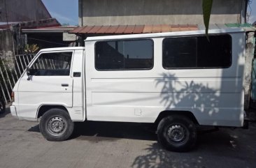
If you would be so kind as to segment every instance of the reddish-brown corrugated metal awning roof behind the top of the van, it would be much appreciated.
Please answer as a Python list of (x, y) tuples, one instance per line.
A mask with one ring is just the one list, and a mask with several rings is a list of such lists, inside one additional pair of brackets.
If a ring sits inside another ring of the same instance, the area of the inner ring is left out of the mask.
[(158, 25), (118, 25), (118, 26), (81, 26), (69, 31), (69, 33), (162, 33), (171, 31), (198, 30), (197, 24), (158, 24)]

